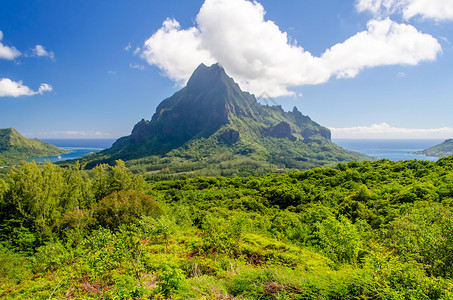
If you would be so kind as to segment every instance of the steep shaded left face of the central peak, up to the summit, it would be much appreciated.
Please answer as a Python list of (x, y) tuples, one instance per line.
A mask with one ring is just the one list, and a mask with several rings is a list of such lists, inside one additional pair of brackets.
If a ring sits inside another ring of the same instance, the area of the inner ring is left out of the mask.
[(143, 154), (164, 154), (194, 138), (213, 135), (231, 124), (231, 116), (256, 119), (255, 103), (255, 98), (242, 92), (220, 65), (202, 64), (185, 88), (162, 101), (150, 121), (140, 121), (132, 134), (114, 147), (124, 147), (126, 142), (146, 144), (148, 153)]

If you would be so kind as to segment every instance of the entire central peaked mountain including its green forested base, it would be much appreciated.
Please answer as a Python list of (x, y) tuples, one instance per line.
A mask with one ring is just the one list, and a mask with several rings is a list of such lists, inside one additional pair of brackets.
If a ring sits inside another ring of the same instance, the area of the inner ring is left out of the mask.
[(330, 140), (330, 130), (296, 107), (262, 105), (225, 70), (201, 64), (187, 86), (162, 101), (151, 120), (110, 149), (84, 157), (88, 167), (116, 159), (151, 173), (235, 175), (308, 169), (369, 157)]

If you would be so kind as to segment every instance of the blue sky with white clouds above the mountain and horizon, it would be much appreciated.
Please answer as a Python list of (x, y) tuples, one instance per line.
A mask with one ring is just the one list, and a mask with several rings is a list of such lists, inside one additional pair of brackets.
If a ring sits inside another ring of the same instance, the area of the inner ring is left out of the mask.
[(453, 137), (453, 1), (1, 5), (0, 128), (27, 137), (127, 135), (217, 61), (334, 138)]

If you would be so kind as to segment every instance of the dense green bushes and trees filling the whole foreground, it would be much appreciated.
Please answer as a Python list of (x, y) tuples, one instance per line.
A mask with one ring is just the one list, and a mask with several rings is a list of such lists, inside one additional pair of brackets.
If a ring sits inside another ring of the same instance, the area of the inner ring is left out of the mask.
[(5, 299), (453, 299), (453, 157), (145, 182), (0, 180)]

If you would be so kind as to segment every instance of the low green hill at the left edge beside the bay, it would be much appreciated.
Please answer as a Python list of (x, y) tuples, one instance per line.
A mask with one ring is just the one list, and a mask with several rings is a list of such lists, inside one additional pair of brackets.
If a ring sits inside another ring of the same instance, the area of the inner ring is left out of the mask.
[(11, 165), (19, 160), (36, 156), (50, 156), (65, 153), (54, 145), (38, 139), (23, 137), (14, 128), (0, 129), (0, 166)]

